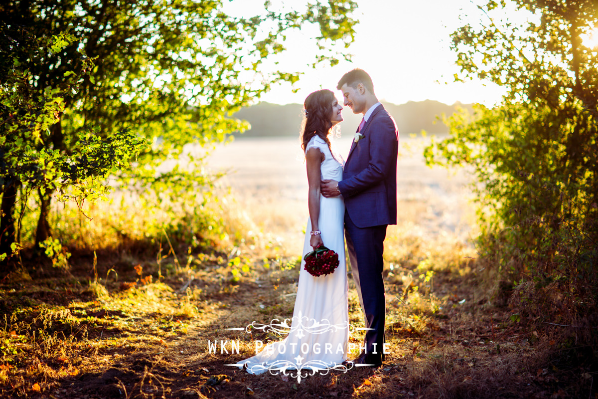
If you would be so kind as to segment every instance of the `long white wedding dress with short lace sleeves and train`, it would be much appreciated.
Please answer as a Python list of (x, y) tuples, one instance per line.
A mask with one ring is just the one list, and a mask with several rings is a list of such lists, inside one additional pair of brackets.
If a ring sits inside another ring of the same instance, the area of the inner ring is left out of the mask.
[[(307, 144), (307, 150), (314, 147), (325, 156), (321, 165), (322, 179), (340, 181), (343, 178), (343, 165), (332, 156), (326, 142), (319, 136), (314, 136)], [(340, 263), (334, 273), (314, 277), (304, 269), (302, 257), (291, 325), (288, 326), (288, 320), (286, 325), (284, 321), (271, 325), (288, 333), (288, 336), (280, 342), (264, 346), (257, 355), (242, 360), (235, 366), (245, 366), (252, 374), (261, 374), (266, 370), (272, 373), (310, 370), (312, 374), (347, 360), (349, 312), (343, 219), (343, 197), (320, 196), (319, 229), (322, 241), (329, 249), (337, 252)], [(303, 256), (313, 251), (309, 245), (311, 231), (312, 223), (308, 219)]]

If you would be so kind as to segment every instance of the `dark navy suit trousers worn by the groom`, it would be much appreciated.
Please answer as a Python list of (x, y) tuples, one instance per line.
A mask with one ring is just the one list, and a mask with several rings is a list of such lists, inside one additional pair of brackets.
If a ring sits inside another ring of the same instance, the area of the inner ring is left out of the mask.
[(344, 212), (344, 229), (349, 250), (351, 272), (359, 301), (365, 313), (365, 352), (368, 363), (384, 360), (383, 343), (386, 317), (386, 299), (382, 270), (386, 224), (360, 228), (355, 226), (349, 213)]

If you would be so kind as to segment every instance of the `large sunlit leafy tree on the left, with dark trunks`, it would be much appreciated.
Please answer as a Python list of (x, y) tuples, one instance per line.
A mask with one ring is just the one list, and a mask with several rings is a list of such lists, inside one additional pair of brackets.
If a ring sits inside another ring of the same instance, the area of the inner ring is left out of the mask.
[[(77, 38), (60, 51), (46, 47), (48, 51), (39, 51), (23, 65), (38, 96), (56, 89), (69, 73), (81, 75), (76, 92), (62, 96), (63, 109), (48, 128), (46, 145), (70, 154), (89, 126), (96, 126), (101, 138), (128, 127), (152, 145), (139, 154), (138, 167), (120, 173), (122, 178), (135, 181), (137, 187), (167, 183), (173, 192), (176, 185), (208, 184), (209, 179), (192, 168), (157, 174), (155, 166), (177, 159), (189, 142), (208, 144), (246, 129), (245, 123), (228, 115), (260, 98), (273, 83), (297, 81), (294, 71), (263, 71), (265, 60), (285, 50), (289, 32), (317, 27), (319, 51), (313, 57), (305, 54), (305, 61), (313, 65), (337, 62), (340, 53), (332, 44), (340, 41), (346, 48), (353, 41), (356, 20), (350, 13), (356, 3), (350, 0), (310, 2), (303, 11), (277, 11), (266, 2), (251, 17), (225, 14), (224, 3), (33, 0), (0, 5), (0, 22), (8, 31), (26, 29), (38, 39)], [(10, 51), (2, 48), (2, 53)], [(81, 73), (81, 54), (94, 60), (89, 73)], [(3, 112), (6, 116), (14, 109)], [(191, 165), (197, 162), (190, 157)], [(10, 190), (18, 186), (13, 180), (3, 187), (8, 190), (2, 203), (3, 226), (13, 223)], [(52, 194), (51, 188), (38, 193), (37, 243), (50, 236), (47, 212)]]

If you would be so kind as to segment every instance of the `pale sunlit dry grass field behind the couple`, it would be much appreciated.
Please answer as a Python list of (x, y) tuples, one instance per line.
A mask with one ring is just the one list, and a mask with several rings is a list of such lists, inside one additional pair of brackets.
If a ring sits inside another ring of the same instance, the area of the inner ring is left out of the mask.
[[(399, 221), (390, 234), (434, 240), (452, 236), (468, 242), (474, 212), (465, 172), (428, 167), (422, 157), (426, 140), (401, 136), (398, 170)], [(334, 148), (346, 156), (350, 138)], [(307, 177), (300, 142), (292, 138), (242, 138), (216, 148), (209, 158), (215, 170), (227, 170), (220, 182), (229, 200), (247, 212), (264, 232), (285, 240), (289, 254), (303, 248), (307, 212)]]

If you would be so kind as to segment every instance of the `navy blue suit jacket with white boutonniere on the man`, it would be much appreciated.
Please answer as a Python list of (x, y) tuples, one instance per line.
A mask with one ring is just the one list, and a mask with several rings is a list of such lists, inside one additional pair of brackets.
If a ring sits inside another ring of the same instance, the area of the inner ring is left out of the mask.
[(396, 224), (396, 158), (399, 131), (381, 105), (353, 140), (338, 190), (355, 226)]

